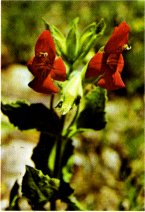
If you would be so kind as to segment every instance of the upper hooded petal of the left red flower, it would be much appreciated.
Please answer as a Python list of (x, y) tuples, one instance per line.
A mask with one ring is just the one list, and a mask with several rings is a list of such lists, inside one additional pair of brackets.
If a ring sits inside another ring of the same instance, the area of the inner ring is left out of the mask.
[(56, 49), (53, 38), (48, 30), (44, 30), (41, 33), (35, 45), (35, 56), (40, 56), (41, 53), (48, 53), (50, 63), (54, 62)]

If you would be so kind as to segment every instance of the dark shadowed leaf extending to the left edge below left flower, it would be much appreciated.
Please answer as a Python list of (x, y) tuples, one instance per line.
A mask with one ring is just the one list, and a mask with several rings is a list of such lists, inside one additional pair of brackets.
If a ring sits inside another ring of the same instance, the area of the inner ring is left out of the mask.
[(3, 104), (2, 112), (10, 122), (20, 130), (36, 128), (38, 131), (56, 134), (60, 131), (60, 121), (57, 114), (41, 103), (28, 104), (24, 101)]

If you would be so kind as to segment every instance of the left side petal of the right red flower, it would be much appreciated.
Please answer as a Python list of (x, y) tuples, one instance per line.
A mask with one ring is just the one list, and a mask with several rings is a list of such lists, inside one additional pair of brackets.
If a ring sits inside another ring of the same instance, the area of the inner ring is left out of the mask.
[(101, 74), (103, 63), (104, 63), (104, 54), (101, 52), (96, 53), (88, 64), (88, 68), (86, 71), (86, 78), (98, 77)]

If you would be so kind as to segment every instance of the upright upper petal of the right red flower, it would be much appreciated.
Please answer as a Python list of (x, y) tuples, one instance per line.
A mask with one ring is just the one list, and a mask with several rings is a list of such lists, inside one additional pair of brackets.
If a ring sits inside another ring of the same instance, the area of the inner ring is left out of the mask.
[(104, 51), (106, 53), (121, 53), (123, 47), (128, 43), (128, 34), (130, 27), (125, 21), (115, 27), (109, 41), (105, 45)]

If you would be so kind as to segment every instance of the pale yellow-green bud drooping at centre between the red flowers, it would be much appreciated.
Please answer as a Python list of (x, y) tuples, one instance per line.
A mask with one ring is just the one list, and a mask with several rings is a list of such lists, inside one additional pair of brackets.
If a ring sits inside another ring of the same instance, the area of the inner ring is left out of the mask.
[[(62, 104), (60, 111), (62, 115), (65, 115), (70, 111), (73, 104), (78, 98), (83, 96), (83, 87), (82, 87), (82, 73), (73, 72), (70, 75), (70, 80), (67, 81), (66, 85), (63, 87), (62, 93)], [(60, 103), (59, 103), (60, 104)]]

